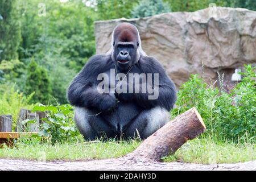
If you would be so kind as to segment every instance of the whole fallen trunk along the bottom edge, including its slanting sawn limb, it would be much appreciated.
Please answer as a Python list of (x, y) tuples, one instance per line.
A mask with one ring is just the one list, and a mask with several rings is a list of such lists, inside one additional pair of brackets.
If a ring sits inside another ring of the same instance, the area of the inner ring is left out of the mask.
[(205, 125), (195, 107), (168, 122), (130, 154), (117, 159), (87, 162), (35, 162), (0, 159), (0, 170), (252, 170), (256, 160), (239, 164), (161, 163), (162, 156), (174, 153), (189, 139), (203, 133)]

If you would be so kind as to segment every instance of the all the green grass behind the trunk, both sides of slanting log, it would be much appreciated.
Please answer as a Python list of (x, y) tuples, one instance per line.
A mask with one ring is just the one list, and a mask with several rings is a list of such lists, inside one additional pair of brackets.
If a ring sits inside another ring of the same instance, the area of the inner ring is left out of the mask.
[[(16, 143), (10, 148), (0, 148), (0, 158), (28, 160), (92, 160), (109, 159), (128, 154), (139, 146), (138, 140), (107, 142)], [(256, 144), (215, 142), (213, 139), (194, 139), (185, 143), (174, 155), (163, 158), (163, 162), (186, 162), (201, 164), (238, 163), (256, 159)]]

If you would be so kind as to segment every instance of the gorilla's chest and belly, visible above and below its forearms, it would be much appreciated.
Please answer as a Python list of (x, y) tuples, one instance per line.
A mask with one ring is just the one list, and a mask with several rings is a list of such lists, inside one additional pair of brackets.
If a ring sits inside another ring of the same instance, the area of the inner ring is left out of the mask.
[[(138, 85), (140, 82), (146, 82), (146, 80), (141, 77), (141, 71), (137, 68), (131, 69), (130, 72), (123, 73), (115, 69), (110, 69), (104, 72), (104, 75), (104, 79), (100, 80), (101, 83), (109, 88), (109, 90), (114, 89), (116, 96), (118, 95), (117, 93), (120, 92), (120, 88), (121, 92), (123, 91), (122, 93), (134, 94), (135, 85)], [(129, 86), (133, 89), (129, 89)], [(102, 117), (104, 117), (114, 129), (120, 131), (125, 130), (125, 127), (132, 122), (141, 111), (142, 108), (133, 101), (118, 101), (117, 109), (112, 114), (102, 115)]]

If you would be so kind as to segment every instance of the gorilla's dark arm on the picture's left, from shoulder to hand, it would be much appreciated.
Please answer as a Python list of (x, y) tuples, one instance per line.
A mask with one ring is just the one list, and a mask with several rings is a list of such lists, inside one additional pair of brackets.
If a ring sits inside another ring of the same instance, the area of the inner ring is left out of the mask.
[(108, 69), (108, 56), (96, 55), (90, 58), (68, 88), (68, 101), (73, 106), (87, 107), (99, 111), (115, 107), (114, 94), (99, 93), (97, 76)]

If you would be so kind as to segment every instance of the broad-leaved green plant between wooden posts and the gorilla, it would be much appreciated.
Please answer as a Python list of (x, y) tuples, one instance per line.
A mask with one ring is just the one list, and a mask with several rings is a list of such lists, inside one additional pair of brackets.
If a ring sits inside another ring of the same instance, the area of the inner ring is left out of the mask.
[(35, 106), (33, 111), (46, 111), (42, 125), (39, 126), (40, 137), (50, 137), (52, 143), (77, 139), (80, 135), (73, 122), (73, 107), (71, 105)]

